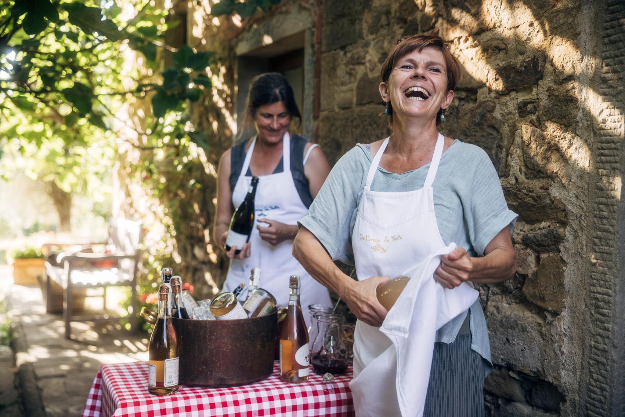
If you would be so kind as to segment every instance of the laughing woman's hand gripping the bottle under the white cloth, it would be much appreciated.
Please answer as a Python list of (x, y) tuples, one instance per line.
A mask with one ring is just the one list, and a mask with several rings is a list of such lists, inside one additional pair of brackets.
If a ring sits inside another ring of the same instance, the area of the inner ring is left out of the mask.
[(388, 311), (377, 301), (376, 288), (389, 279), (390, 276), (372, 276), (362, 281), (353, 281), (350, 288), (342, 294), (349, 311), (369, 326), (382, 326)]

